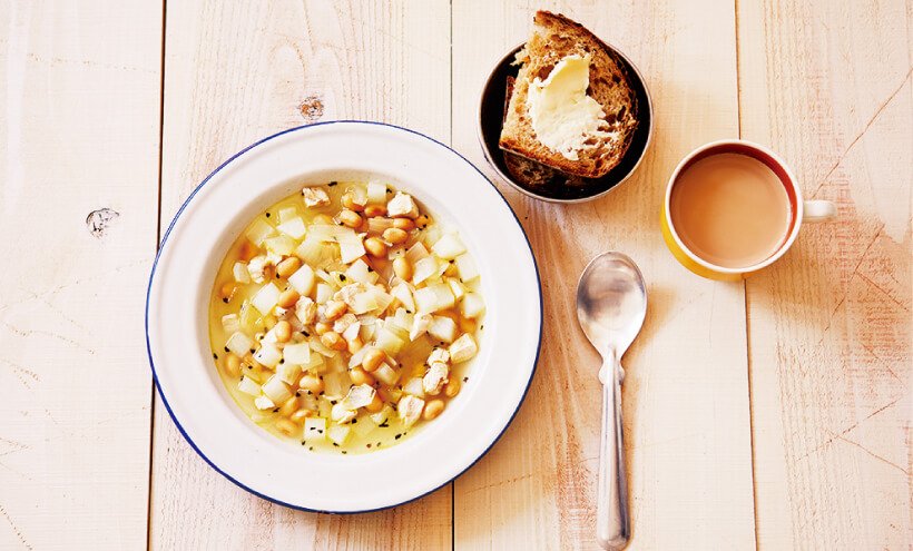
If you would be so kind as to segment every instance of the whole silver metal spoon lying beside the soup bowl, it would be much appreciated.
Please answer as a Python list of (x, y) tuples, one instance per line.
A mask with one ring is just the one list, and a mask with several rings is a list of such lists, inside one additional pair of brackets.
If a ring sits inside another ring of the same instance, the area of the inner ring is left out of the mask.
[(621, 432), (621, 356), (647, 314), (647, 289), (637, 265), (621, 253), (593, 258), (577, 284), (577, 318), (602, 355), (602, 440), (599, 454), (596, 539), (602, 549), (624, 549), (631, 535), (625, 435)]

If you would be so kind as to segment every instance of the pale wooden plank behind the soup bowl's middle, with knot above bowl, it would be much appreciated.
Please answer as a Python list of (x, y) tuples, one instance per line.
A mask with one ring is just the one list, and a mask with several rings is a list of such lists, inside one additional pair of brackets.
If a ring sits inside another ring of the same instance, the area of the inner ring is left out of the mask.
[[(366, 119), (450, 140), (444, 1), (168, 6), (161, 222), (223, 160), (305, 122)], [(391, 511), (334, 516), (255, 498), (208, 468), (156, 404), (154, 549), (442, 549), (451, 486)]]

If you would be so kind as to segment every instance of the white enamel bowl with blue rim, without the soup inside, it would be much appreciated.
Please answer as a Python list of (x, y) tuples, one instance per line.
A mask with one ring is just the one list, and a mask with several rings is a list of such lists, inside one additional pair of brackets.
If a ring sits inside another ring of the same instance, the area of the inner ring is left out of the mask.
[[(216, 269), (254, 216), (307, 184), (384, 180), (459, 228), (487, 304), (470, 381), (444, 413), (401, 443), (325, 455), (289, 445), (234, 403), (209, 348)], [(216, 169), (175, 216), (149, 282), (146, 340), (156, 384), (190, 445), (216, 471), (276, 503), (352, 513), (424, 495), (469, 469), (526, 395), (539, 354), (541, 289), (523, 230), (469, 161), (420, 134), (341, 121), (272, 136)]]

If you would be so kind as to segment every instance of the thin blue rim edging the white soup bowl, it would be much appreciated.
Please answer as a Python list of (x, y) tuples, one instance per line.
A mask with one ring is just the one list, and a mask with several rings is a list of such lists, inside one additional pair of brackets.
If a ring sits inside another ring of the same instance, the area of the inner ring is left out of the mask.
[[(269, 495), (261, 493), (257, 490), (254, 490), (253, 488), (243, 484), (242, 482), (239, 482), (238, 480), (234, 479), (228, 473), (226, 473), (225, 471), (219, 469), (218, 465), (216, 465), (209, 457), (206, 456), (206, 454), (203, 453), (203, 451), (200, 451), (199, 447), (197, 447), (196, 443), (190, 439), (190, 436), (184, 430), (184, 426), (180, 424), (180, 421), (178, 421), (177, 417), (175, 416), (175, 413), (171, 411), (171, 406), (168, 405), (168, 400), (165, 397), (165, 394), (161, 392), (161, 385), (159, 385), (159, 383), (158, 383), (158, 374), (156, 373), (155, 362), (153, 362), (153, 351), (151, 351), (151, 346), (149, 345), (149, 296), (151, 294), (153, 279), (155, 278), (155, 275), (156, 275), (156, 267), (158, 266), (158, 259), (161, 256), (161, 250), (164, 250), (164, 248), (165, 248), (165, 244), (168, 240), (168, 236), (171, 235), (171, 229), (175, 227), (175, 224), (177, 223), (177, 219), (184, 213), (184, 209), (187, 208), (187, 205), (189, 205), (190, 201), (194, 199), (197, 191), (203, 189), (203, 186), (205, 186), (213, 178), (213, 176), (218, 174), (219, 170), (222, 170), (223, 168), (228, 166), (232, 161), (234, 161), (236, 158), (240, 157), (245, 152), (249, 151), (251, 149), (254, 149), (255, 147), (258, 147), (258, 146), (261, 146), (261, 145), (263, 145), (263, 144), (265, 144), (265, 142), (274, 139), (274, 138), (278, 138), (279, 136), (283, 136), (283, 135), (286, 135), (286, 134), (289, 134), (289, 132), (294, 132), (294, 131), (298, 131), (298, 130), (303, 130), (303, 129), (307, 129), (307, 128), (313, 128), (313, 127), (317, 127), (317, 126), (328, 126), (328, 125), (373, 125), (373, 126), (382, 126), (382, 127), (387, 127), (387, 128), (395, 128), (397, 130), (403, 130), (403, 131), (406, 131), (406, 132), (410, 132), (410, 134), (414, 134), (415, 136), (421, 136), (422, 138), (424, 138), (424, 139), (433, 142), (433, 144), (436, 144), (438, 146), (441, 146), (441, 147), (450, 150), (451, 152), (457, 155), (460, 159), (462, 159), (463, 163), (471, 166), (477, 173), (479, 173), (479, 176), (481, 176), (482, 179), (484, 179), (494, 189), (494, 193), (498, 194), (498, 197), (500, 197), (501, 200), (504, 201), (504, 205), (507, 205), (508, 210), (510, 211), (510, 214), (513, 215), (514, 222), (517, 222), (517, 225), (520, 227), (520, 233), (523, 234), (523, 238), (527, 240), (527, 247), (529, 248), (530, 257), (532, 257), (532, 266), (536, 269), (536, 283), (537, 283), (537, 286), (539, 288), (539, 338), (538, 338), (538, 343), (536, 345), (536, 360), (533, 360), (533, 362), (532, 362), (532, 371), (530, 372), (529, 381), (527, 381), (527, 387), (523, 388), (523, 395), (520, 397), (520, 402), (517, 403), (517, 409), (513, 410), (513, 413), (511, 414), (510, 419), (508, 420), (507, 424), (501, 430), (501, 432), (498, 433), (498, 435), (494, 437), (494, 440), (491, 442), (491, 444), (489, 444), (489, 446), (485, 447), (484, 451), (482, 451), (482, 453), (472, 461), (472, 463), (470, 463), (465, 469), (463, 469), (462, 471), (460, 471), (459, 473), (453, 475), (453, 478), (451, 478), (446, 482), (444, 482), (444, 483), (442, 483), (442, 484), (440, 484), (435, 488), (432, 488), (431, 490), (426, 491), (425, 493), (422, 493), (422, 494), (416, 495), (414, 498), (411, 498), (409, 500), (402, 501), (400, 503), (394, 503), (392, 505), (385, 505), (385, 506), (380, 506), (380, 508), (375, 508), (375, 509), (364, 509), (364, 510), (361, 510), (361, 511), (324, 511), (324, 510), (318, 510), (318, 509), (308, 509), (308, 508), (301, 506), (301, 505), (294, 505), (292, 503), (286, 503), (284, 501), (271, 498)], [(484, 455), (494, 446), (494, 444), (498, 443), (499, 440), (501, 440), (501, 436), (504, 434), (504, 431), (507, 431), (508, 426), (510, 426), (511, 423), (513, 423), (513, 419), (517, 416), (517, 413), (520, 411), (520, 406), (526, 401), (527, 394), (529, 393), (530, 384), (532, 384), (532, 377), (536, 375), (536, 370), (539, 366), (539, 354), (540, 354), (541, 348), (542, 348), (542, 323), (543, 323), (542, 306), (543, 306), (542, 305), (542, 281), (539, 277), (539, 265), (536, 262), (536, 255), (532, 252), (532, 245), (529, 242), (529, 237), (527, 236), (527, 232), (526, 232), (526, 229), (523, 229), (523, 225), (520, 224), (520, 218), (517, 217), (517, 213), (513, 211), (513, 208), (511, 208), (510, 203), (508, 203), (508, 200), (504, 198), (503, 194), (501, 194), (501, 191), (498, 189), (498, 186), (492, 184), (492, 181), (490, 179), (488, 179), (488, 177), (481, 170), (479, 170), (479, 168), (475, 165), (470, 163), (469, 159), (467, 159), (465, 157), (463, 157), (462, 155), (460, 155), (459, 152), (457, 152), (454, 149), (446, 146), (445, 144), (442, 144), (442, 142), (438, 141), (434, 138), (425, 136), (424, 134), (418, 132), (415, 130), (410, 130), (409, 128), (403, 128), (403, 127), (395, 126), (395, 125), (389, 125), (386, 122), (375, 122), (375, 121), (371, 121), (371, 120), (328, 120), (328, 121), (325, 121), (325, 122), (314, 122), (312, 125), (302, 125), (302, 126), (297, 126), (297, 127), (294, 127), (294, 128), (288, 128), (286, 130), (281, 131), (281, 132), (276, 132), (272, 136), (263, 138), (262, 140), (256, 141), (254, 144), (252, 144), (251, 146), (245, 147), (240, 151), (238, 151), (235, 155), (233, 155), (232, 157), (229, 157), (228, 160), (226, 160), (225, 163), (219, 165), (218, 168), (216, 168), (215, 170), (209, 173), (209, 175), (206, 178), (204, 178), (203, 181), (194, 189), (194, 191), (190, 194), (190, 196), (187, 197), (187, 199), (184, 201), (184, 204), (177, 210), (177, 214), (175, 214), (175, 217), (171, 219), (171, 223), (168, 225), (168, 229), (165, 232), (165, 236), (161, 238), (161, 243), (159, 244), (158, 250), (156, 252), (155, 262), (153, 263), (153, 269), (149, 274), (149, 284), (146, 287), (146, 314), (145, 314), (145, 321), (146, 321), (146, 355), (149, 358), (149, 367), (153, 371), (153, 380), (155, 381), (156, 388), (158, 390), (158, 395), (159, 395), (159, 397), (161, 397), (161, 403), (165, 404), (165, 409), (168, 411), (168, 415), (170, 415), (171, 421), (175, 422), (175, 425), (177, 426), (178, 431), (180, 431), (180, 434), (184, 435), (184, 440), (186, 440), (187, 443), (190, 444), (190, 447), (193, 447), (194, 451), (197, 452), (197, 455), (203, 457), (203, 461), (205, 461), (209, 466), (212, 466), (213, 470), (215, 470), (217, 473), (222, 474), (223, 476), (225, 476), (229, 481), (234, 482), (237, 486), (246, 490), (247, 492), (249, 492), (249, 493), (252, 493), (252, 494), (254, 494), (254, 495), (256, 495), (261, 499), (264, 499), (264, 500), (269, 501), (272, 503), (275, 503), (277, 505), (286, 506), (286, 508), (289, 508), (289, 509), (297, 509), (300, 511), (308, 511), (308, 512), (313, 512), (313, 513), (334, 513), (334, 514), (370, 513), (370, 512), (373, 512), (373, 511), (383, 511), (385, 509), (392, 509), (394, 506), (404, 505), (404, 504), (411, 503), (415, 500), (420, 500), (420, 499), (424, 498), (425, 495), (428, 495), (430, 493), (436, 492), (438, 490), (442, 489), (443, 486), (450, 484), (451, 482), (453, 482), (454, 480), (460, 478), (460, 475), (462, 475), (464, 472), (472, 469), (472, 466), (475, 463), (478, 463), (479, 460), (484, 457)]]

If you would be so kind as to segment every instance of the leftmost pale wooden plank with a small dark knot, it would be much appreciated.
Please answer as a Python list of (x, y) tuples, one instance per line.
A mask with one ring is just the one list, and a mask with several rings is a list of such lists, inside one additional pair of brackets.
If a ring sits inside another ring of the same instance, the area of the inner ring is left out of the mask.
[(0, 28), (0, 548), (139, 549), (161, 3), (4, 2)]

